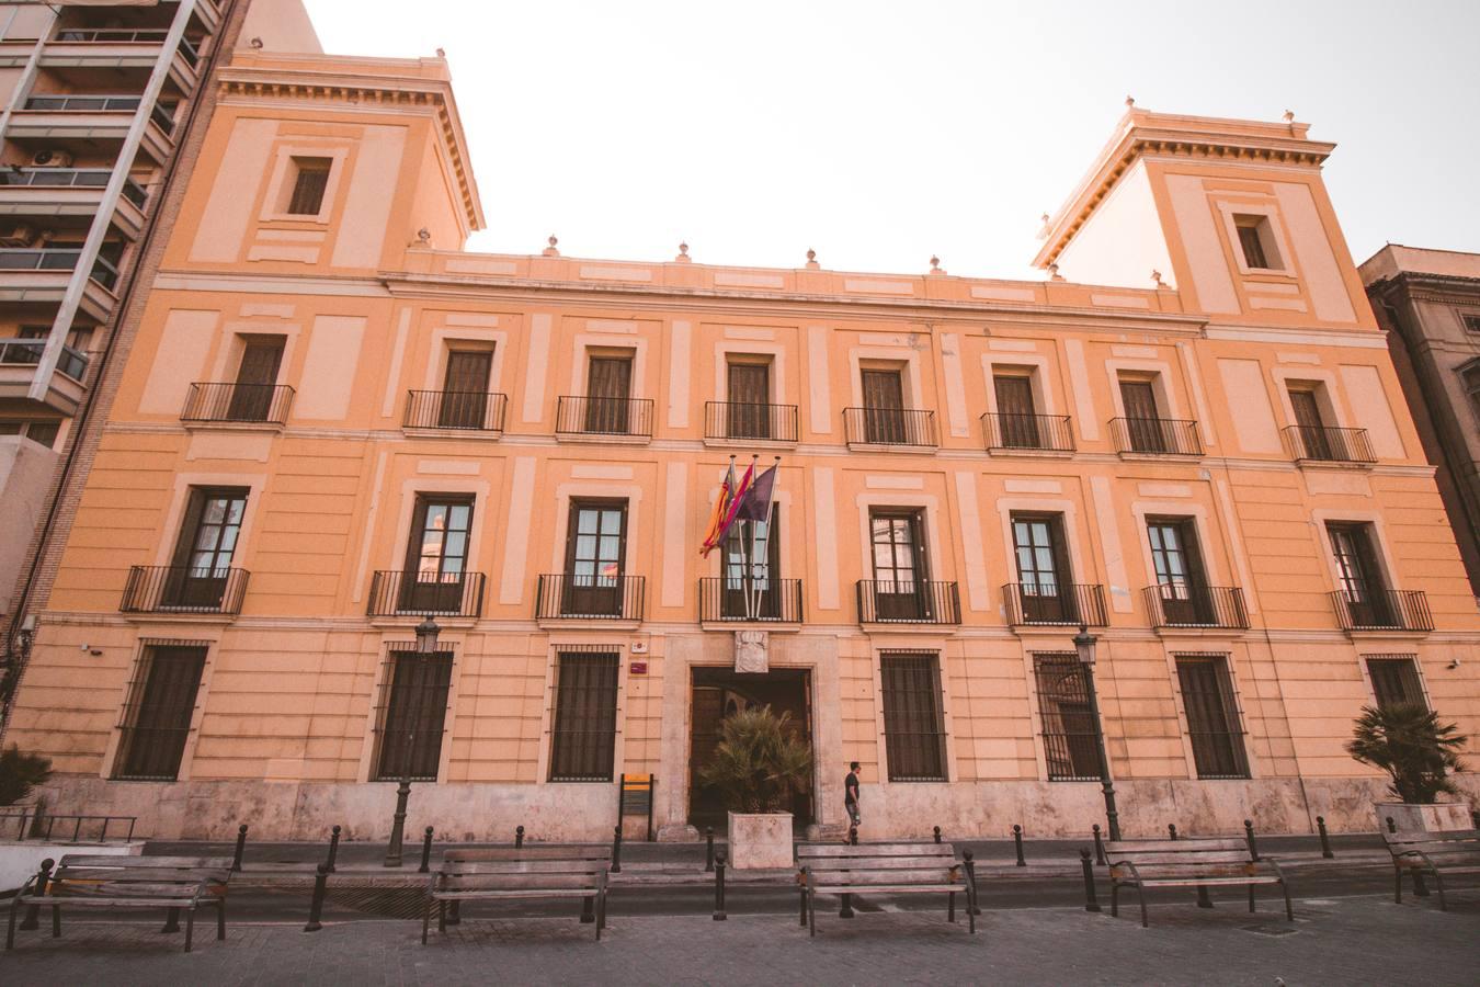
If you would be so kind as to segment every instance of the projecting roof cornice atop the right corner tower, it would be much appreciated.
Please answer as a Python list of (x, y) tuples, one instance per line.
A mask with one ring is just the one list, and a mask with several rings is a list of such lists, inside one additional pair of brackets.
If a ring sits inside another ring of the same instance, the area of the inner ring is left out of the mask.
[(1183, 117), (1129, 110), (1089, 172), (1040, 231), (1043, 246), (1033, 265), (1046, 268), (1069, 247), (1120, 176), (1143, 157), (1183, 157), (1320, 167), (1335, 144), (1310, 141), (1308, 123), (1259, 123), (1217, 117)]

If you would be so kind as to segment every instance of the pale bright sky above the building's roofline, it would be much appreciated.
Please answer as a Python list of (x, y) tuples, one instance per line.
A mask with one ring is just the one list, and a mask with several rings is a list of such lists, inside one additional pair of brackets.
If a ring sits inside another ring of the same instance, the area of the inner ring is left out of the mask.
[(1360, 263), (1480, 252), (1480, 0), (306, 0), (336, 55), (445, 49), (488, 228), (471, 250), (1037, 278), (1125, 111), (1338, 144)]

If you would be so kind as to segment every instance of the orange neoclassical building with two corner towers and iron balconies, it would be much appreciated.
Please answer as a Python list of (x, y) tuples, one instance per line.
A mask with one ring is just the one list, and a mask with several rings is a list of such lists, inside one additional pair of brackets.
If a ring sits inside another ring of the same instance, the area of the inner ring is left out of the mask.
[[(462, 250), (438, 59), (241, 52), (64, 506), (6, 740), (155, 836), (722, 818), (1373, 829), (1363, 704), (1480, 732), (1480, 614), (1307, 124), (1131, 108), (1039, 281)], [(700, 252), (696, 250), (696, 255)], [(736, 457), (776, 511), (707, 558)], [(414, 627), (431, 614), (435, 648)], [(737, 672), (737, 636), (764, 672)], [(1480, 792), (1473, 775), (1461, 775)]]

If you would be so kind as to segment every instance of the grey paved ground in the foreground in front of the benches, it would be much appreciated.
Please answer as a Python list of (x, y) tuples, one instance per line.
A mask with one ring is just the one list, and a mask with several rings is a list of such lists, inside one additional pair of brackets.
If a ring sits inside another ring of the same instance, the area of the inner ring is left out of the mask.
[[(64, 938), (24, 934), (0, 981), (71, 984), (1474, 984), (1480, 895), (1452, 910), (1378, 897), (1305, 898), (1296, 922), (1273, 900), (1254, 916), (1231, 901), (1151, 907), (1151, 928), (1070, 909), (987, 912), (978, 934), (940, 912), (851, 922), (818, 910), (817, 938), (795, 916), (613, 916), (601, 943), (568, 919), (465, 919), (419, 943), (414, 922), (207, 929), (195, 951), (158, 923), (68, 922)], [(1294, 929), (1294, 932), (1291, 931)]]

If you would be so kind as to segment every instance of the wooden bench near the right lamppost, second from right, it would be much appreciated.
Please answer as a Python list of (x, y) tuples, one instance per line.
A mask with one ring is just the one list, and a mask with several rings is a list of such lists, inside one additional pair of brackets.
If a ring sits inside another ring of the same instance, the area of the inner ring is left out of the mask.
[(1110, 914), (1120, 914), (1119, 892), (1134, 886), (1141, 898), (1141, 926), (1147, 925), (1147, 888), (1249, 888), (1249, 912), (1254, 912), (1254, 888), (1279, 885), (1285, 892), (1285, 917), (1295, 920), (1291, 889), (1280, 866), (1268, 857), (1255, 860), (1243, 839), (1147, 839), (1106, 843), (1110, 864)]

